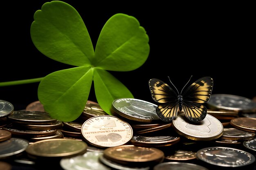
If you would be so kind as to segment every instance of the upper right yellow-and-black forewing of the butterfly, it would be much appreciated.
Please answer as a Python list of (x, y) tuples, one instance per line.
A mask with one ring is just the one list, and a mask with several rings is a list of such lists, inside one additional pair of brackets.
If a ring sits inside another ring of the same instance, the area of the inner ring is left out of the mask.
[(183, 94), (183, 100), (196, 103), (206, 103), (211, 97), (213, 79), (202, 77), (191, 84)]

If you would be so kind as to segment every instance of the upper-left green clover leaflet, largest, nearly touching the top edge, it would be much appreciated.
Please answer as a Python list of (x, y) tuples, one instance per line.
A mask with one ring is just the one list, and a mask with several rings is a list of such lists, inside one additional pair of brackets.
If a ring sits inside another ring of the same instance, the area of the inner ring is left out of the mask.
[(69, 4), (43, 4), (34, 14), (30, 33), (36, 48), (47, 57), (73, 66), (91, 65), (92, 41), (81, 16)]

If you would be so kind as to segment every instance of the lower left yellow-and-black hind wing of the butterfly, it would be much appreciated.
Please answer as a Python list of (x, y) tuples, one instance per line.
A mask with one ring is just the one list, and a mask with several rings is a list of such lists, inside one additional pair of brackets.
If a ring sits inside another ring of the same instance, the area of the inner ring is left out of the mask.
[(171, 121), (177, 117), (178, 112), (178, 103), (177, 102), (168, 102), (165, 104), (160, 104), (156, 108), (157, 115), (163, 121)]

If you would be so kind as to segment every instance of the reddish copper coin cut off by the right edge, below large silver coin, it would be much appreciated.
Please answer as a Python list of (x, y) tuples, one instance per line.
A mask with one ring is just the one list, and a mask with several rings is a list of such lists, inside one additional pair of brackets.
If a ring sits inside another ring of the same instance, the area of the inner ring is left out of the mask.
[(231, 119), (230, 124), (235, 128), (249, 131), (249, 132), (256, 132), (256, 118), (251, 117), (237, 117)]

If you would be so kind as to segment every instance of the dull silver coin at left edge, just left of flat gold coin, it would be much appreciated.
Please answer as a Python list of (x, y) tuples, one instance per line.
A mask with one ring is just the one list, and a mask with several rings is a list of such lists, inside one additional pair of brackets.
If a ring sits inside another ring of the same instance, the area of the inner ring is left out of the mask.
[(27, 146), (29, 146), (29, 141), (14, 137), (7, 141), (0, 142), (0, 158), (17, 155), (23, 152)]

